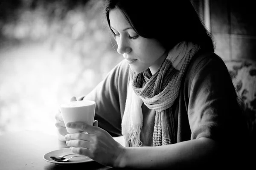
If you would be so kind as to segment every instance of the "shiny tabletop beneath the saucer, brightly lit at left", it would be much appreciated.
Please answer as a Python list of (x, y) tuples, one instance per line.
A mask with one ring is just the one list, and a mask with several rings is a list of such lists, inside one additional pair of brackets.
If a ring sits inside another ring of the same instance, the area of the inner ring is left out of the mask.
[(58, 140), (57, 135), (54, 136), (40, 131), (23, 130), (3, 134), (0, 136), (0, 170), (117, 169), (104, 166), (96, 161), (67, 166), (44, 161), (44, 154), (67, 147), (65, 142)]

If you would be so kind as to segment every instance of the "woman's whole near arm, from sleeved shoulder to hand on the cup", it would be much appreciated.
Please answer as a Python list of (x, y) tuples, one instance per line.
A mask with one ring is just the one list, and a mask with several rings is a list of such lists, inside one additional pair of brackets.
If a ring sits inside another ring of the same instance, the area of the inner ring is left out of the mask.
[[(190, 133), (190, 140), (157, 147), (123, 147), (102, 128), (72, 122), (69, 127), (88, 134), (65, 136), (67, 145), (74, 153), (84, 154), (112, 167), (198, 169), (218, 167), (227, 159), (234, 160), (235, 156), (240, 159), (238, 148), (241, 147), (243, 133), (239, 127), (242, 120), (239, 119), (239, 111), (235, 113), (233, 109), (237, 103), (230, 95), (232, 82), (227, 81), (228, 72), (218, 60), (206, 61), (200, 62), (201, 66), (196, 67), (200, 69), (192, 70), (192, 75), (187, 76), (186, 92), (181, 96), (188, 96), (189, 100), (184, 106), (187, 111), (182, 114), (187, 116), (191, 130), (183, 133)], [(229, 163), (236, 165), (237, 161)]]

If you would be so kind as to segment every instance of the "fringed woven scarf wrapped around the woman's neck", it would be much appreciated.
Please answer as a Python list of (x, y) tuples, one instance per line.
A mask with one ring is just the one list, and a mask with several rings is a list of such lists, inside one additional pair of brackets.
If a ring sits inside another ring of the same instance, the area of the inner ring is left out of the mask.
[(180, 42), (172, 48), (158, 71), (151, 75), (149, 69), (142, 73), (130, 70), (125, 112), (122, 118), (122, 135), (126, 147), (138, 147), (143, 125), (141, 106), (156, 111), (153, 146), (176, 142), (175, 119), (172, 105), (179, 95), (180, 82), (199, 46), (192, 42)]

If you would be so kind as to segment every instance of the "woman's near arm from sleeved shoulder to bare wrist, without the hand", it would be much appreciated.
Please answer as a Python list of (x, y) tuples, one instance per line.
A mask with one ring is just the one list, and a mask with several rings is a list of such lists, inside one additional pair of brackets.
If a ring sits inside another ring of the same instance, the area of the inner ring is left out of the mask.
[(234, 165), (238, 163), (235, 159), (241, 160), (244, 120), (236, 109), (238, 103), (229, 73), (218, 57), (205, 56), (200, 61), (189, 70), (181, 95), (187, 96), (191, 140), (159, 147), (125, 148), (120, 167), (198, 168), (203, 164)]

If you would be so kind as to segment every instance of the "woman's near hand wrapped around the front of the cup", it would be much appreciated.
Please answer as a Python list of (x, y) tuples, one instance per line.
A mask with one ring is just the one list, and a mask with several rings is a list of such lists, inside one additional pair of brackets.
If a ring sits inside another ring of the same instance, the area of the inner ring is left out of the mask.
[(94, 126), (83, 122), (70, 122), (67, 127), (79, 129), (87, 133), (67, 134), (66, 144), (73, 153), (90, 157), (94, 161), (111, 167), (118, 167), (123, 156), (125, 147), (116, 142), (105, 130), (98, 127), (98, 121)]

